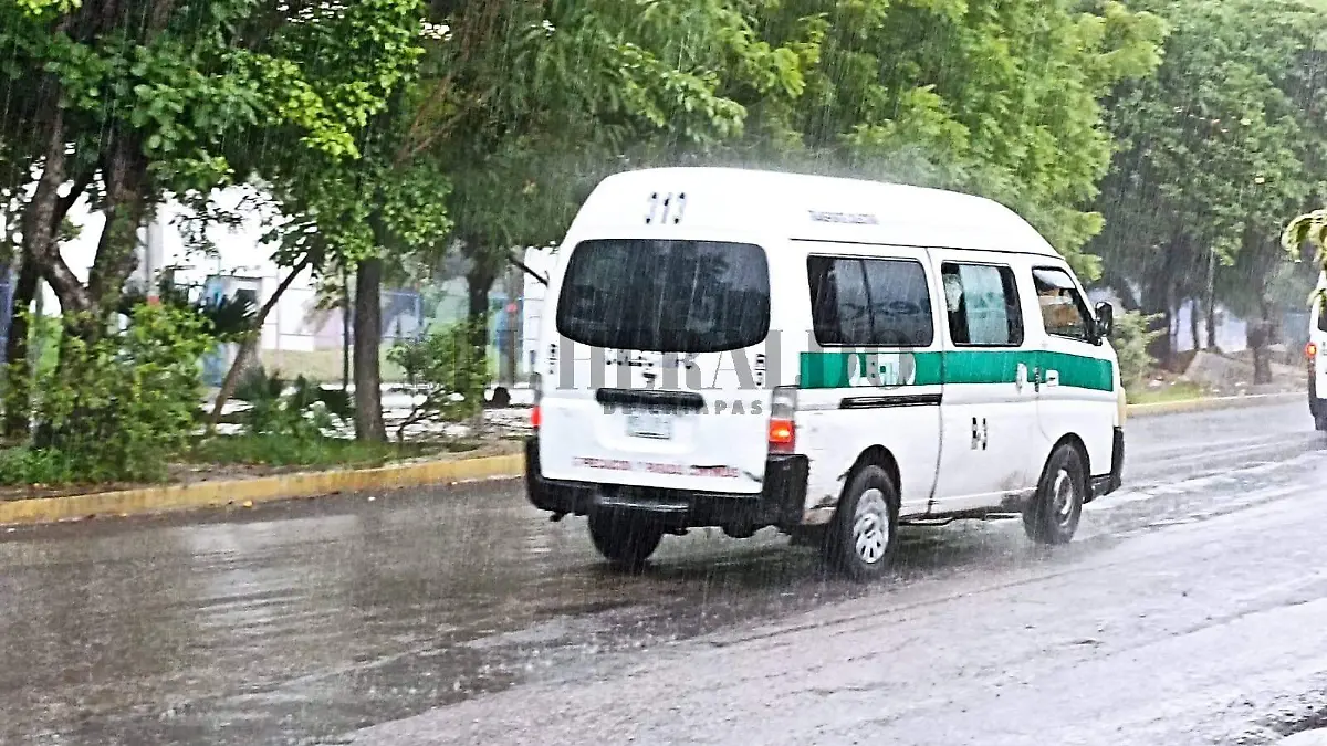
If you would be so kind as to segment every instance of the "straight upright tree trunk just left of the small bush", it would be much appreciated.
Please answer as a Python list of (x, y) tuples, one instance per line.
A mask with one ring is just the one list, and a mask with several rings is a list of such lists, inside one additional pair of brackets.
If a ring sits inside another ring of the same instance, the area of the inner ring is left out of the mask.
[(354, 275), (354, 437), (386, 441), (382, 422), (382, 259), (360, 261)]

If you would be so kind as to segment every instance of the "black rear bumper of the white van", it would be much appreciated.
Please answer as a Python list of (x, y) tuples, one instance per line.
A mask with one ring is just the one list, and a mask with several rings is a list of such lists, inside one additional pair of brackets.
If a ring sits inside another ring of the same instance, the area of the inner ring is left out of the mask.
[(594, 482), (545, 479), (539, 467), (539, 437), (525, 439), (525, 496), (555, 515), (592, 510), (650, 514), (669, 528), (707, 526), (763, 528), (802, 523), (811, 462), (804, 455), (771, 455), (756, 494), (693, 492)]

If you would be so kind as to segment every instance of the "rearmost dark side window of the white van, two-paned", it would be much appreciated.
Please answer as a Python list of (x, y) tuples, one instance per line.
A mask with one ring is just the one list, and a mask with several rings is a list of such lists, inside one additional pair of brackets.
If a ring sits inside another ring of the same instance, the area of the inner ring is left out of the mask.
[(934, 340), (920, 261), (811, 256), (807, 272), (817, 344), (928, 346)]

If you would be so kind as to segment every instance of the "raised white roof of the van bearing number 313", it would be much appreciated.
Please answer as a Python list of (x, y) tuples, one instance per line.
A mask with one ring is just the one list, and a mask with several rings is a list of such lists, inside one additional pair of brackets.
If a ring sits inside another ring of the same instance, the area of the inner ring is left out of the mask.
[[(673, 196), (665, 219), (662, 200)], [(657, 198), (652, 203), (652, 196)], [(685, 199), (678, 199), (685, 198)], [(646, 222), (652, 214), (653, 219)], [(740, 232), (758, 226), (795, 240), (1009, 251), (1059, 256), (1016, 212), (982, 196), (784, 171), (674, 167), (608, 177), (572, 232), (632, 236), (666, 226)]]

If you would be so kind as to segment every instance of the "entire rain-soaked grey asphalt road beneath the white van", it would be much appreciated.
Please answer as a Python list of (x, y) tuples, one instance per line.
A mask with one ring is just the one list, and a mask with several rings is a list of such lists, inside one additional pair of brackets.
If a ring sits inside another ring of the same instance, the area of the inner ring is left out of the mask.
[(1135, 419), (1079, 538), (771, 531), (638, 577), (511, 486), (0, 535), (0, 743), (1267, 743), (1327, 719), (1327, 438)]

